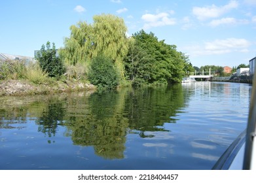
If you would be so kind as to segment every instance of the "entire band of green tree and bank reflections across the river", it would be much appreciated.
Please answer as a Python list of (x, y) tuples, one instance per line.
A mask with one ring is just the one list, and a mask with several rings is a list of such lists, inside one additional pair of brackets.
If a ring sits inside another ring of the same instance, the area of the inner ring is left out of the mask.
[(33, 103), (27, 108), (1, 109), (5, 121), (0, 118), (0, 127), (8, 127), (11, 121), (21, 121), (23, 117), (26, 122), (27, 115), (40, 116), (36, 121), (38, 131), (48, 137), (56, 135), (58, 125), (63, 125), (67, 127), (65, 135), (71, 137), (74, 144), (93, 146), (95, 154), (106, 159), (121, 159), (124, 158), (127, 133), (153, 138), (154, 135), (147, 132), (166, 131), (164, 123), (175, 122), (170, 116), (175, 118), (177, 110), (184, 106), (180, 85), (126, 88), (101, 95), (70, 95)]

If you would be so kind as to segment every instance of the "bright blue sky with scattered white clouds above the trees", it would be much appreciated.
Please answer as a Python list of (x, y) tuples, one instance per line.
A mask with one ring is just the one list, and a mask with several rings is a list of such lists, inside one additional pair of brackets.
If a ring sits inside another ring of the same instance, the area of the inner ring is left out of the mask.
[(256, 0), (8, 0), (1, 2), (0, 52), (33, 56), (47, 41), (62, 47), (70, 25), (96, 14), (124, 18), (175, 44), (193, 66), (237, 66), (256, 56)]

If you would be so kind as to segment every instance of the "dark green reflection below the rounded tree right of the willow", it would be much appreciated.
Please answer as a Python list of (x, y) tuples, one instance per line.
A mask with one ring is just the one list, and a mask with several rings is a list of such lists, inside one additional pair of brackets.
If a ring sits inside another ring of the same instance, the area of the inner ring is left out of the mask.
[(141, 131), (166, 131), (164, 123), (175, 123), (179, 108), (184, 107), (181, 85), (157, 88), (138, 88), (132, 90), (126, 98), (125, 116), (129, 118), (130, 129)]

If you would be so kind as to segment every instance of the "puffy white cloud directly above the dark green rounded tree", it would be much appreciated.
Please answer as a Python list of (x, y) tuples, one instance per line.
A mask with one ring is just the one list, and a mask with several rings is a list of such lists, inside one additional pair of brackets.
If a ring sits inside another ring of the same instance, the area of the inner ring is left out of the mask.
[(175, 18), (170, 18), (169, 16), (170, 14), (167, 12), (160, 12), (158, 14), (143, 14), (141, 17), (141, 19), (145, 22), (143, 29), (176, 24)]

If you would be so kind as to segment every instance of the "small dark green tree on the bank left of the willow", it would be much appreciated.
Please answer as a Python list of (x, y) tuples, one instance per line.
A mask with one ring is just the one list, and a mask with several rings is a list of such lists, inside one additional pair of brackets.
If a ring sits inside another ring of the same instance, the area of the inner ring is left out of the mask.
[(65, 73), (65, 67), (62, 59), (56, 54), (55, 44), (52, 43), (52, 48), (50, 48), (50, 42), (48, 41), (46, 43), (46, 49), (43, 44), (41, 50), (37, 52), (36, 59), (39, 61), (39, 65), (43, 71), (48, 73), (48, 76), (59, 78)]

